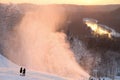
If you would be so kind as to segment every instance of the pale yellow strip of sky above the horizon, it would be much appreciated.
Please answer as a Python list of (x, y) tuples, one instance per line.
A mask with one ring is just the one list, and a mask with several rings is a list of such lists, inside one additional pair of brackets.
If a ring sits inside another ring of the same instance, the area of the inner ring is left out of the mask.
[(120, 4), (120, 0), (0, 0), (0, 2), (33, 3), (33, 4), (77, 4), (77, 5)]

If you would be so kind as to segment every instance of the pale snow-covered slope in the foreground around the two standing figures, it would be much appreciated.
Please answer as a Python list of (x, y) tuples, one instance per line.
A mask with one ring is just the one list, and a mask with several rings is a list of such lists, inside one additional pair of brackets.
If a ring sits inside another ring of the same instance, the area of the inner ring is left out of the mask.
[(66, 80), (55, 75), (27, 70), (26, 76), (20, 76), (20, 66), (0, 55), (0, 80)]

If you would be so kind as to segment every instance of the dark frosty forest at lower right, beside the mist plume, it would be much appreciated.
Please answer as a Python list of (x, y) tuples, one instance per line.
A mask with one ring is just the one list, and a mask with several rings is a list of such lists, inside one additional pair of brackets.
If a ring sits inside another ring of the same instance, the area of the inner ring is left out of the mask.
[(119, 41), (116, 42), (103, 37), (92, 37), (89, 38), (89, 42), (87, 42), (87, 40), (85, 40), (85, 42), (78, 37), (74, 37), (70, 32), (67, 35), (77, 62), (89, 74), (94, 77), (110, 78), (114, 78), (114, 76), (119, 74)]

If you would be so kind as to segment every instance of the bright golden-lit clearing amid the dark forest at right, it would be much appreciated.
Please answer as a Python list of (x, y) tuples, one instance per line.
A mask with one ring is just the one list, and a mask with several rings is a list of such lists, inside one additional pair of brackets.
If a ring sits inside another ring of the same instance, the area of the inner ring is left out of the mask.
[(104, 36), (106, 35), (108, 38), (114, 37), (120, 37), (120, 33), (116, 32), (114, 29), (103, 25), (103, 24), (98, 24), (98, 20), (92, 19), (92, 18), (84, 18), (83, 21), (85, 24), (87, 24), (87, 27), (89, 27), (94, 35), (100, 35)]

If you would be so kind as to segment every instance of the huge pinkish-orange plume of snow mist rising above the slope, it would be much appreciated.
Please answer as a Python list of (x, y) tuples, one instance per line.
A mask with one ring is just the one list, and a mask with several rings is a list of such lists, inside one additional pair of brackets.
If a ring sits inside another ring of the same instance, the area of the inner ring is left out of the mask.
[[(5, 55), (26, 68), (80, 80), (89, 75), (77, 64), (66, 34), (57, 30), (65, 24), (63, 7), (44, 6), (27, 11), (17, 27), (16, 38), (7, 40), (11, 45)], [(17, 45), (15, 47), (12, 46)]]

